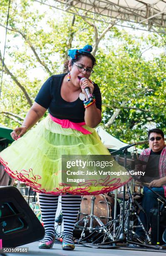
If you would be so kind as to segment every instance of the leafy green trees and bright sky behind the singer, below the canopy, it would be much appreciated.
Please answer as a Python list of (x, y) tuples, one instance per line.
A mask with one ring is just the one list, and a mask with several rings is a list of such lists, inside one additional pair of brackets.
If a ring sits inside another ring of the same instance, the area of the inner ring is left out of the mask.
[[(7, 9), (8, 0), (2, 0), (0, 33), (4, 35)], [(33, 0), (13, 0), (10, 7), (0, 123), (12, 128), (21, 124), (42, 83), (63, 72), (67, 50), (87, 43), (97, 50), (92, 79), (102, 92), (104, 128), (128, 143), (146, 139), (149, 127), (166, 133), (166, 56), (162, 51), (166, 36), (131, 35)], [(161, 53), (147, 59), (148, 49), (151, 54), (153, 49)], [(2, 53), (1, 47), (1, 62)]]

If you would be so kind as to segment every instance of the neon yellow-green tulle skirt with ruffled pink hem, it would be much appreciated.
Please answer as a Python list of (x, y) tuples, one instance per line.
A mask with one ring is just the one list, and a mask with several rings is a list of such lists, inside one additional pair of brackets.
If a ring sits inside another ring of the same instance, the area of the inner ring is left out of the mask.
[[(106, 186), (62, 183), (62, 155), (110, 155), (94, 128), (84, 125), (91, 134), (62, 128), (49, 115), (0, 152), (0, 162), (13, 178), (25, 182), (36, 192), (62, 195), (95, 195), (106, 193), (129, 182), (129, 175), (109, 176)], [(71, 156), (72, 158), (72, 156)], [(113, 158), (112, 158), (113, 159)], [(124, 167), (114, 163), (114, 171)]]

